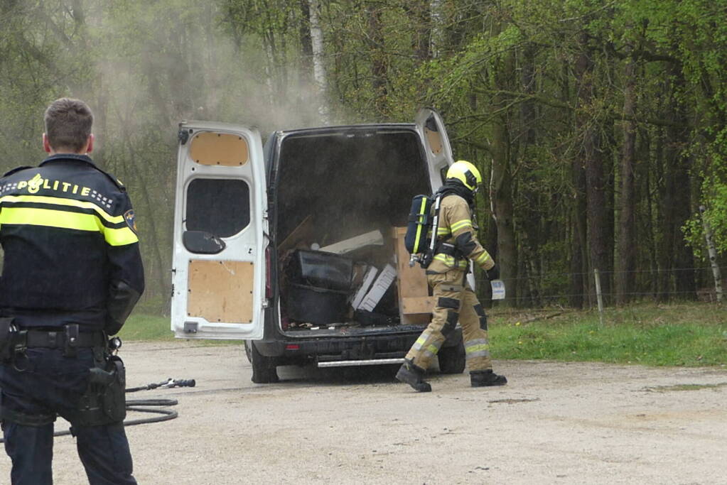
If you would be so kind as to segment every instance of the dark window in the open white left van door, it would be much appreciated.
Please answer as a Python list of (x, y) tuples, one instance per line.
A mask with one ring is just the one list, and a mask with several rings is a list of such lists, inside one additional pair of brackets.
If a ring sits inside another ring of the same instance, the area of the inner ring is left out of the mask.
[(217, 237), (250, 224), (250, 187), (240, 179), (194, 179), (187, 188), (186, 229)]

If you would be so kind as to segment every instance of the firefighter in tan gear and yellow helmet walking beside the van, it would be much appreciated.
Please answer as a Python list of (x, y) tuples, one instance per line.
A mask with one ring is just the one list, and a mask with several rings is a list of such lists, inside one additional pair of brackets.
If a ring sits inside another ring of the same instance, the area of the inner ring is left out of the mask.
[(499, 277), (497, 265), (478, 243), (473, 227), (473, 203), (481, 183), (478, 169), (470, 162), (458, 160), (449, 167), (446, 182), (440, 189), (438, 243), (433, 261), (426, 269), (435, 299), (432, 321), (411, 346), (396, 374), (398, 380), (419, 392), (432, 390), (424, 380), (425, 371), (458, 321), (462, 325), (471, 385), (507, 383), (504, 375), (492, 371), (487, 317), (466, 280), (468, 259), (484, 269), (490, 280)]

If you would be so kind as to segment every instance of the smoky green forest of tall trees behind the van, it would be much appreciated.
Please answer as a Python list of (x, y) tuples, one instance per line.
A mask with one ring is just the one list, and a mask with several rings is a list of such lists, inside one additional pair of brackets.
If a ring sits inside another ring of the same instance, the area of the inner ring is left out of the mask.
[(709, 298), (726, 20), (727, 0), (0, 0), (0, 169), (44, 158), (49, 102), (89, 102), (94, 158), (134, 200), (145, 308), (166, 313), (177, 123), (265, 135), (430, 106), (486, 179), (509, 303), (590, 306), (594, 269), (606, 303)]

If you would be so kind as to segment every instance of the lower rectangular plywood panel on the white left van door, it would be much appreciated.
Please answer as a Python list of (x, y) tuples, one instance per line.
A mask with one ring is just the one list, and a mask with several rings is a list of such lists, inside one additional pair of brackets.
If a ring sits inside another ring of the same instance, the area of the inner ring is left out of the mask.
[(189, 262), (187, 313), (208, 322), (252, 322), (251, 261)]

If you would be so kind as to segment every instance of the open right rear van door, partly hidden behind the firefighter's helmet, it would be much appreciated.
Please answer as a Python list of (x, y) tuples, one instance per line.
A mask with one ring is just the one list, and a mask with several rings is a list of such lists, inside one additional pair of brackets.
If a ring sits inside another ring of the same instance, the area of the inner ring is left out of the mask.
[(435, 191), (444, 183), (447, 168), (454, 163), (449, 137), (441, 116), (431, 108), (422, 108), (414, 118), (429, 161), (429, 178)]

